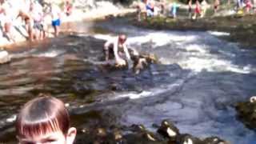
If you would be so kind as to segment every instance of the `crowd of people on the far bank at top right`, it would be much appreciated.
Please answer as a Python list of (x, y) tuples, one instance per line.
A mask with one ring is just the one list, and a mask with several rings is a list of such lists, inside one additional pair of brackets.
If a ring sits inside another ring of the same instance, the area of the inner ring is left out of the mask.
[[(187, 10), (189, 18), (202, 18), (206, 15), (206, 10), (212, 8), (214, 14), (218, 13), (219, 6), (221, 6), (220, 0), (214, 0), (210, 5), (206, 0), (188, 0), (187, 1)], [(227, 4), (230, 5), (230, 0), (227, 1)], [(137, 6), (138, 10), (138, 21), (141, 21), (142, 16), (144, 18), (154, 17), (156, 15), (167, 15), (172, 18), (177, 18), (178, 14), (178, 3), (176, 1), (166, 2), (166, 0), (142, 0)], [(256, 10), (256, 0), (237, 0), (236, 6), (234, 7), (237, 11), (246, 11), (247, 14), (255, 13)]]

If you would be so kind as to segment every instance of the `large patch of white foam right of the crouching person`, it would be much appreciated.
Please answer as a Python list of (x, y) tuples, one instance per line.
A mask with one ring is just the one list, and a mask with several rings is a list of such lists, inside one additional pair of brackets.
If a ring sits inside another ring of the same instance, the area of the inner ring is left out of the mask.
[[(214, 35), (228, 35), (226, 33), (149, 30), (141, 34), (128, 38), (127, 43), (133, 47), (149, 44), (150, 46), (143, 47), (142, 51), (152, 49), (148, 51), (156, 52), (162, 64), (178, 63), (183, 68), (194, 70), (195, 72), (208, 70), (248, 74), (252, 71), (251, 67), (234, 64), (234, 56), (236, 55), (232, 51), (232, 49), (235, 49), (234, 45), (230, 46), (230, 43), (214, 37)], [(220, 43), (222, 43), (222, 49), (217, 47)], [(174, 54), (170, 51), (178, 52)]]

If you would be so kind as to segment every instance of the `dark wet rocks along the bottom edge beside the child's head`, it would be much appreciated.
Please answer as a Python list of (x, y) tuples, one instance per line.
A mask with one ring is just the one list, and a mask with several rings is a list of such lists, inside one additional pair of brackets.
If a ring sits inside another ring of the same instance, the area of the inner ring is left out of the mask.
[(166, 120), (162, 122), (161, 126), (156, 124), (153, 126), (159, 127), (158, 133), (161, 135), (146, 130), (143, 125), (135, 124), (132, 126), (110, 126), (109, 128), (104, 126), (104, 128), (82, 128), (78, 131), (81, 134), (78, 134), (76, 143), (230, 144), (218, 137), (205, 138), (202, 141), (190, 134), (179, 134), (178, 128)]

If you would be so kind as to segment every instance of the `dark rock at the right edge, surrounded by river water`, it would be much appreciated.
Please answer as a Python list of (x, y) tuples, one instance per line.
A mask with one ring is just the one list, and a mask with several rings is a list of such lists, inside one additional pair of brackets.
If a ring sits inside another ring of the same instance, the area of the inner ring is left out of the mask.
[(251, 97), (249, 102), (238, 102), (235, 106), (238, 112), (238, 119), (247, 127), (256, 128), (256, 97)]

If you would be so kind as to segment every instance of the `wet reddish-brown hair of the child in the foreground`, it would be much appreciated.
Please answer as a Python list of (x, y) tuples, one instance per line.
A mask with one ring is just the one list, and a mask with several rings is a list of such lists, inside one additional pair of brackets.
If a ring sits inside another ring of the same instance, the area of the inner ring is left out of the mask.
[(58, 130), (67, 134), (69, 128), (70, 116), (64, 103), (45, 95), (27, 102), (16, 120), (16, 131), (20, 137), (34, 137)]

